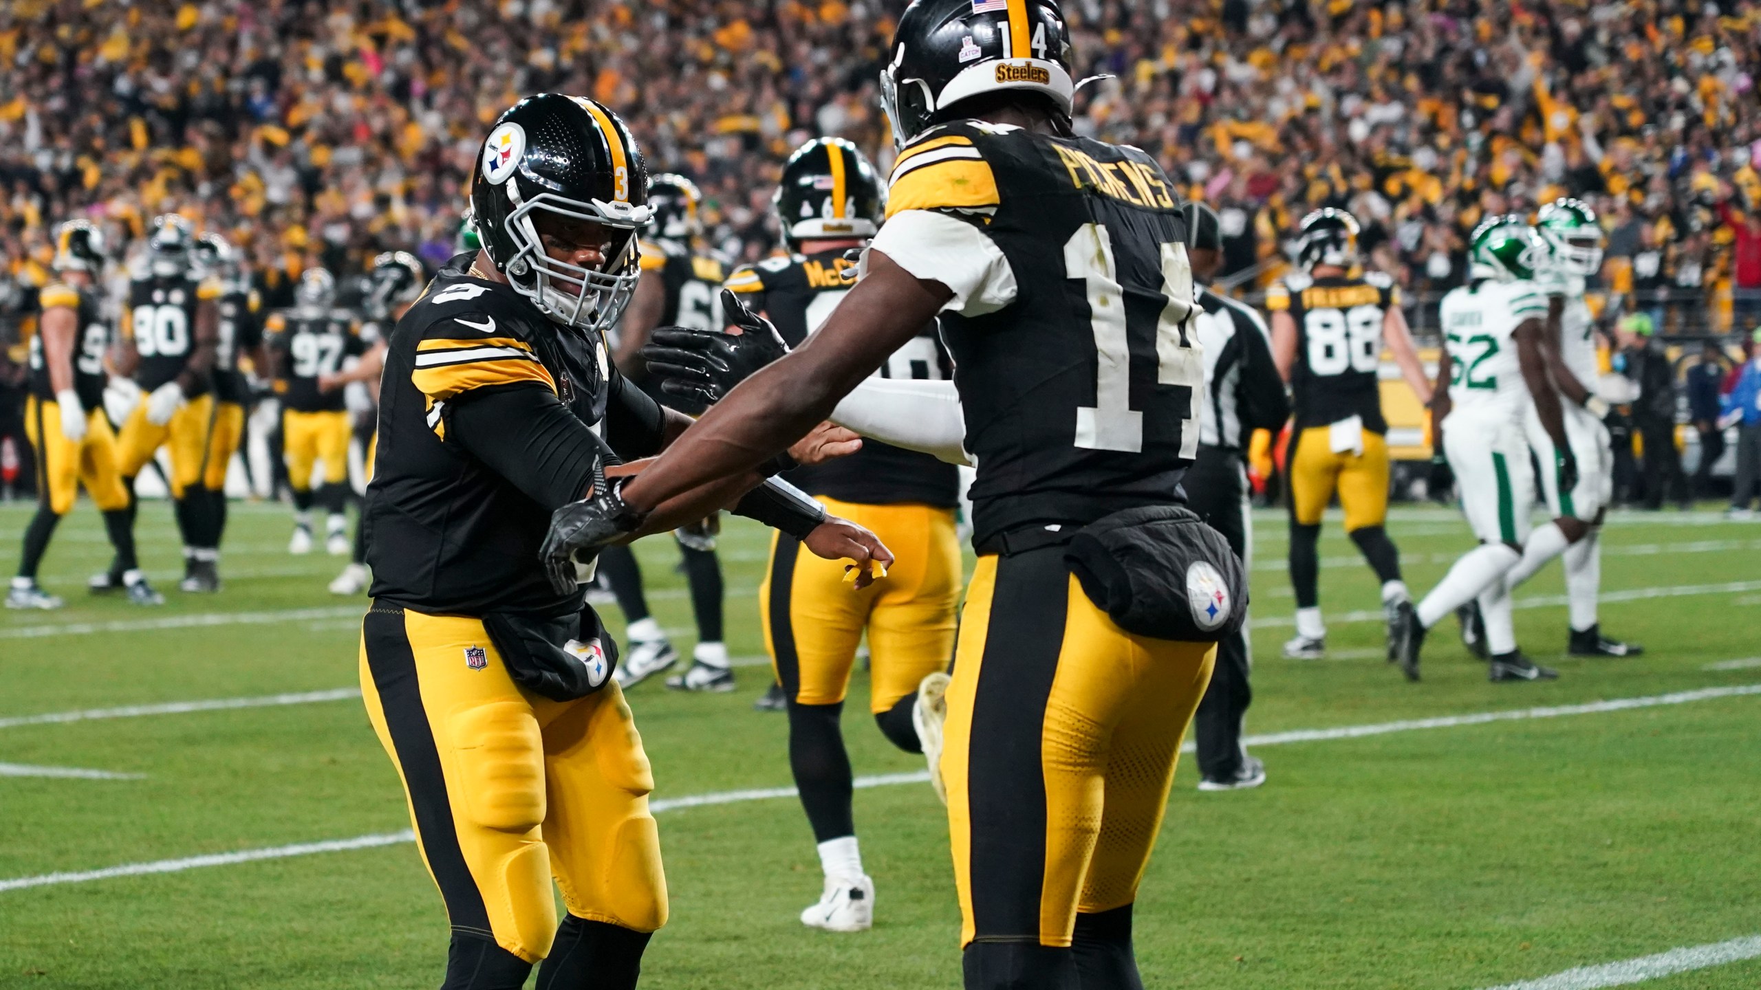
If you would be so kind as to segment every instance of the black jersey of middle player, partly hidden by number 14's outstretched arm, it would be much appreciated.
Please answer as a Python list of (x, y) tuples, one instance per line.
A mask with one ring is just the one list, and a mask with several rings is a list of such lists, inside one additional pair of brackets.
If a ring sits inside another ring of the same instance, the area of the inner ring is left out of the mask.
[[(845, 268), (851, 262), (836, 250), (773, 257), (740, 268), (727, 287), (768, 315), (789, 347), (798, 347), (854, 285), (844, 280)], [(875, 373), (882, 379), (947, 379), (951, 372), (932, 322)], [(863, 440), (863, 449), (847, 458), (798, 467), (785, 477), (808, 495), (863, 506), (923, 502), (951, 509), (960, 504), (960, 470), (954, 465), (879, 440)]]

